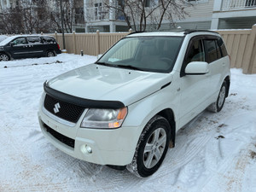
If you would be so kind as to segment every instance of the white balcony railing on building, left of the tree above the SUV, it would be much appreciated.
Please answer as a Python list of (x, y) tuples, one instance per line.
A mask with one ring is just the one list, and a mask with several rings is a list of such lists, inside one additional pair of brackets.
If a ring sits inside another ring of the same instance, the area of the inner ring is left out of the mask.
[[(109, 8), (104, 7), (104, 6), (88, 8), (86, 17), (90, 21), (110, 20), (111, 19), (111, 18), (109, 18)], [(125, 16), (122, 13), (115, 13), (113, 16), (113, 19), (114, 20), (125, 20)]]

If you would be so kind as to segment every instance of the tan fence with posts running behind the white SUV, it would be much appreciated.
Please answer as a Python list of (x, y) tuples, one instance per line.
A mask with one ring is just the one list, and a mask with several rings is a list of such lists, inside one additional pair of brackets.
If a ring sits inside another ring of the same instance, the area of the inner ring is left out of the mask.
[[(243, 73), (256, 73), (256, 25), (247, 30), (217, 32), (224, 38), (231, 58), (231, 67), (242, 68)], [(129, 32), (65, 34), (67, 53), (80, 54), (80, 51), (83, 50), (86, 55), (99, 55), (127, 34)], [(61, 34), (52, 35), (63, 49)]]

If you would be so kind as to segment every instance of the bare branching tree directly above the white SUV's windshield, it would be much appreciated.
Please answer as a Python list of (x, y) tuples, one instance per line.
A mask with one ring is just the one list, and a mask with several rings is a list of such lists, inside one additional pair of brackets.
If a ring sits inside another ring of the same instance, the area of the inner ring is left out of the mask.
[(191, 5), (185, 0), (117, 0), (112, 4), (105, 1), (104, 4), (122, 13), (127, 26), (140, 32), (145, 31), (148, 24), (159, 30), (163, 20), (173, 24), (173, 16), (184, 18), (187, 15), (184, 6)]

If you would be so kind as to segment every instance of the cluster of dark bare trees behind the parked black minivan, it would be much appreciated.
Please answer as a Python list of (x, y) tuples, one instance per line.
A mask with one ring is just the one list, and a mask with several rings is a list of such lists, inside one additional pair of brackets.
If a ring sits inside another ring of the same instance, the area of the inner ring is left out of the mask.
[[(72, 32), (77, 0), (62, 0), (64, 32)], [(0, 15), (0, 32), (62, 32), (60, 0), (19, 0)], [(2, 21), (3, 20), (3, 21)]]

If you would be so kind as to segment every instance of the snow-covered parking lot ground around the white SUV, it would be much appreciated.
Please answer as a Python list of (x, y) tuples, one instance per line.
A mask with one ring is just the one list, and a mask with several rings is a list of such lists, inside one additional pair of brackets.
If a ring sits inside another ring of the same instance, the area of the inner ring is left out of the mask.
[(178, 131), (152, 177), (76, 160), (51, 145), (37, 117), (44, 81), (93, 61), (61, 54), (0, 62), (0, 191), (256, 191), (256, 75), (239, 69), (231, 70), (223, 110), (204, 111)]

